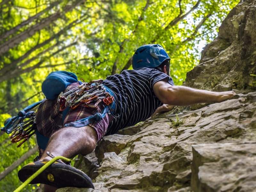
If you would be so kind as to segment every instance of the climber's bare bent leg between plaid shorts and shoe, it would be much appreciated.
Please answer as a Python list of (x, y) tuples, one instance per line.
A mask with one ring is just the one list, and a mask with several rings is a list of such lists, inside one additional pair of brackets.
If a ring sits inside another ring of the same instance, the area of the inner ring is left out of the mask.
[(71, 158), (78, 154), (87, 155), (91, 153), (96, 145), (97, 133), (91, 126), (65, 127), (52, 134), (39, 161), (52, 159), (46, 154), (46, 151), (54, 156)]

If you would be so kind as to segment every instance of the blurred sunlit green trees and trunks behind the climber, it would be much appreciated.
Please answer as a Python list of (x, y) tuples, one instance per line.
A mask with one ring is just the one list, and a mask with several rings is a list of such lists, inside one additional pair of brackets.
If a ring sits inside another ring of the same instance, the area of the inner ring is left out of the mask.
[[(44, 98), (41, 82), (51, 71), (68, 70), (85, 81), (132, 69), (143, 44), (161, 44), (171, 57), (170, 74), (180, 85), (200, 59), (203, 44), (238, 0), (0, 0), (0, 126), (9, 116)], [(17, 148), (1, 132), (0, 172), (36, 147)], [(21, 182), (17, 171), (3, 191)], [(26, 191), (37, 190), (37, 185)]]

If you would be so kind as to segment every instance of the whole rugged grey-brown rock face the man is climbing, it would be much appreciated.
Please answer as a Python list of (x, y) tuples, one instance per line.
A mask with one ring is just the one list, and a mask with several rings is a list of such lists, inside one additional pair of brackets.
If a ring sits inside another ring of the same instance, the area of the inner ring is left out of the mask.
[(235, 97), (174, 108), (104, 137), (78, 167), (95, 189), (57, 192), (255, 191), (256, 89), (249, 85), (256, 81), (255, 4), (244, 0), (229, 13), (183, 84), (233, 89)]

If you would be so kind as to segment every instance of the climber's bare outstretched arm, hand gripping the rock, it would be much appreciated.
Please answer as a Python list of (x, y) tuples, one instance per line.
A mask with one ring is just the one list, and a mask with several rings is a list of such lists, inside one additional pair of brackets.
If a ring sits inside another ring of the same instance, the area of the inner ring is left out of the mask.
[(196, 103), (222, 102), (234, 95), (233, 91), (211, 92), (198, 90), (185, 86), (172, 86), (164, 81), (159, 81), (153, 86), (156, 97), (164, 104), (187, 106)]

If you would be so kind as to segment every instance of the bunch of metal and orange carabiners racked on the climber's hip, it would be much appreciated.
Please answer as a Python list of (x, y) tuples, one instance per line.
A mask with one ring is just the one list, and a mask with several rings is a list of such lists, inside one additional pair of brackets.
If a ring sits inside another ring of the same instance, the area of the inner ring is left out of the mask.
[(72, 110), (81, 104), (88, 108), (98, 108), (101, 102), (110, 105), (114, 97), (106, 92), (102, 83), (103, 79), (93, 80), (89, 83), (84, 82), (65, 93), (61, 92), (57, 100), (60, 103), (59, 110), (63, 111), (67, 107)]

